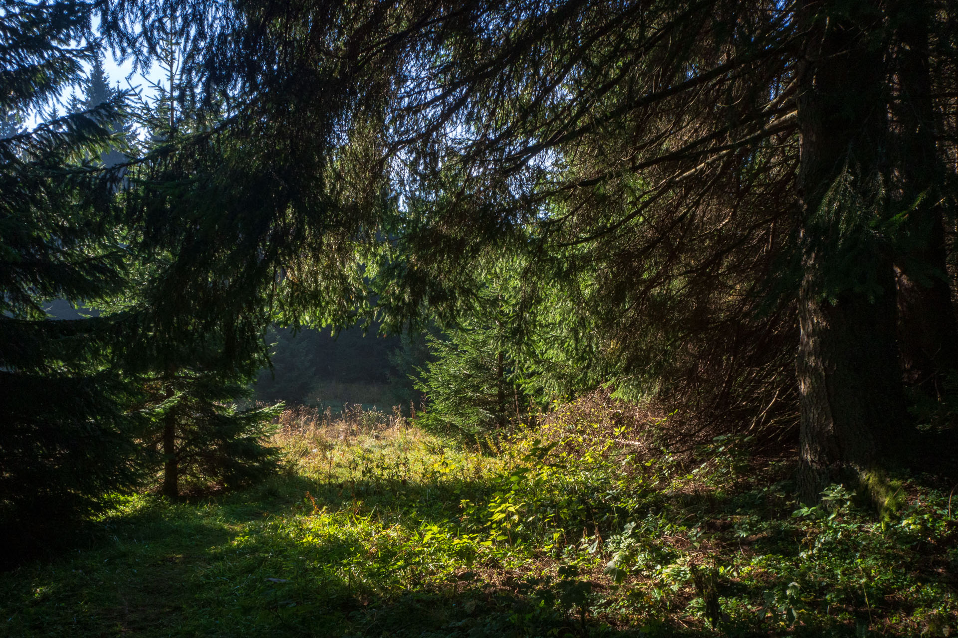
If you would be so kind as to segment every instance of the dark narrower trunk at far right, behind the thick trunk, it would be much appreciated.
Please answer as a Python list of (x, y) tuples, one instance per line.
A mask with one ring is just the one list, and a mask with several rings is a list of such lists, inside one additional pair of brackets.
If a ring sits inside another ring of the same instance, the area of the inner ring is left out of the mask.
[(896, 258), (899, 269), (901, 363), (909, 383), (932, 395), (941, 391), (948, 369), (958, 366), (958, 322), (947, 281), (947, 248), (941, 185), (943, 166), (935, 147), (935, 112), (928, 67), (927, 2), (900, 4), (898, 55), (901, 95), (901, 205), (911, 209), (907, 244)]

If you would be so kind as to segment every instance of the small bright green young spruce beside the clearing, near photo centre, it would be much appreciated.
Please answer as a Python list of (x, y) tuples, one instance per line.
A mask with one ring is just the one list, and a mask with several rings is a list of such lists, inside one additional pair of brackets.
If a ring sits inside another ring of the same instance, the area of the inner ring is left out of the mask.
[(490, 255), (470, 274), (475, 289), (457, 301), (458, 321), (426, 335), (430, 361), (415, 383), (426, 399), (423, 428), (488, 447), (490, 434), (532, 423), (553, 396), (605, 381), (611, 358), (594, 324), (570, 309), (574, 297), (559, 284), (528, 290), (528, 265), (522, 255)]

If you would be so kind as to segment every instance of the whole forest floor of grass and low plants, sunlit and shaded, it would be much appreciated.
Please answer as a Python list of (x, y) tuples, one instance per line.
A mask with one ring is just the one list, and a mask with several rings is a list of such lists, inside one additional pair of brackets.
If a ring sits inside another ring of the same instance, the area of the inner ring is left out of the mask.
[(799, 506), (790, 455), (730, 439), (679, 458), (570, 411), (484, 454), (353, 416), (291, 413), (261, 486), (122, 500), (0, 574), (0, 635), (958, 635), (932, 477), (878, 517), (837, 486)]

